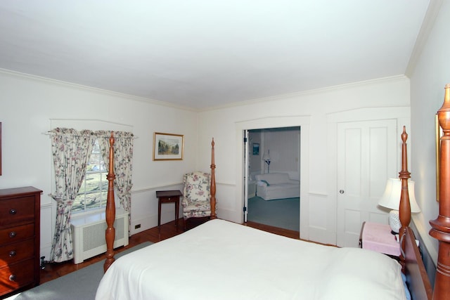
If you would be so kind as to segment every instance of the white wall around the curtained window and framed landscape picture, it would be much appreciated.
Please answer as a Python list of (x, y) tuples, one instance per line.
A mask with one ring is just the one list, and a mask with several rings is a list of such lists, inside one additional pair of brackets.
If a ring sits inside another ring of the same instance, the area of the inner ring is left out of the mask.
[[(56, 217), (55, 202), (49, 197), (54, 187), (51, 141), (43, 133), (51, 129), (52, 122), (64, 123), (64, 119), (72, 119), (71, 123), (82, 128), (91, 123), (86, 120), (102, 120), (95, 123), (104, 124), (103, 129), (122, 126), (137, 136), (131, 196), (132, 232), (136, 232), (134, 225), (137, 223), (141, 223), (139, 230), (157, 225), (155, 190), (181, 188), (182, 175), (196, 169), (197, 112), (11, 72), (0, 72), (0, 91), (3, 159), (0, 188), (32, 185), (44, 190), (41, 195), (41, 255), (46, 259), (49, 259)], [(58, 122), (55, 119), (59, 119)], [(119, 124), (110, 127), (108, 122)], [(184, 160), (153, 162), (155, 131), (184, 134)], [(207, 171), (208, 167), (209, 164), (202, 170)], [(172, 205), (163, 206), (162, 223), (173, 219)]]

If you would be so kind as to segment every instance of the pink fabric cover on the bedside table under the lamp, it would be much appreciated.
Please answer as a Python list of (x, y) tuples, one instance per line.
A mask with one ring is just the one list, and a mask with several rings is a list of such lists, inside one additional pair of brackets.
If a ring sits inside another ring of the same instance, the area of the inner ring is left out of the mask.
[(400, 256), (400, 244), (389, 225), (366, 222), (362, 239), (364, 249)]

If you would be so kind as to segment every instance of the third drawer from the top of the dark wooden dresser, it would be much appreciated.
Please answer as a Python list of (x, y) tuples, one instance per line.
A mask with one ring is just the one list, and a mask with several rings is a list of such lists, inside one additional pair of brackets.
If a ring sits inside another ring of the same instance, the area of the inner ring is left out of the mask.
[(2, 246), (0, 247), (0, 268), (25, 259), (32, 259), (33, 256), (34, 239)]

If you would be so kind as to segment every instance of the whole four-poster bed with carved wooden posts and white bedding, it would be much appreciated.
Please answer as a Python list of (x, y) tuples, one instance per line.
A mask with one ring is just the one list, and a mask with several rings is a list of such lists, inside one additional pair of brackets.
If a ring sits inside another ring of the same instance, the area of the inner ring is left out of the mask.
[[(406, 299), (408, 294), (420, 300), (450, 299), (450, 114), (447, 112), (450, 103), (444, 102), (438, 112), (439, 124), (444, 129), (440, 148), (440, 208), (438, 218), (430, 221), (430, 235), (439, 240), (434, 291), (409, 228), (410, 173), (404, 129), (399, 172), (402, 184), (399, 262), (370, 250), (293, 240), (213, 218), (113, 263), (114, 218), (108, 221), (110, 205), (107, 205), (108, 250), (105, 275), (96, 299)], [(214, 144), (211, 167), (214, 174)], [(113, 174), (108, 178), (113, 178)], [(215, 180), (212, 184), (215, 195)]]

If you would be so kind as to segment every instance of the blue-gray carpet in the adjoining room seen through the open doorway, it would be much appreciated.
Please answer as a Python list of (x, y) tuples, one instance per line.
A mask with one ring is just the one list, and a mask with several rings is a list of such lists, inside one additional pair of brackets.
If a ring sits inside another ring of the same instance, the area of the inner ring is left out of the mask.
[(300, 231), (300, 199), (287, 198), (266, 201), (261, 197), (252, 197), (248, 200), (247, 220)]

